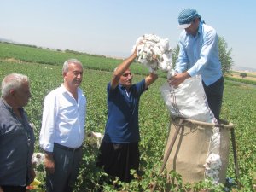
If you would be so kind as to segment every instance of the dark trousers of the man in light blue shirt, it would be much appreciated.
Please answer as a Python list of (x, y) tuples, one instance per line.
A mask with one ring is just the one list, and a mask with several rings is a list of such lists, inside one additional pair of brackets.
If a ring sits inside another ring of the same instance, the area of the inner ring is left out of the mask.
[(224, 78), (221, 77), (215, 83), (210, 84), (208, 86), (204, 82), (202, 83), (207, 95), (207, 102), (208, 102), (209, 108), (211, 108), (215, 118), (219, 120), (219, 114), (221, 110), (223, 91), (224, 91)]

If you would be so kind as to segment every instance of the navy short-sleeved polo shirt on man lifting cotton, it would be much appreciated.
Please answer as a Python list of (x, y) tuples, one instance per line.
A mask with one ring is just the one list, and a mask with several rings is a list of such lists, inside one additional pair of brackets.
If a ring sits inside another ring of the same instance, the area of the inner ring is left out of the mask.
[(145, 89), (145, 79), (132, 84), (130, 94), (119, 84), (111, 89), (108, 84), (108, 120), (105, 128), (104, 142), (137, 143), (140, 140), (138, 125), (138, 107), (140, 96)]

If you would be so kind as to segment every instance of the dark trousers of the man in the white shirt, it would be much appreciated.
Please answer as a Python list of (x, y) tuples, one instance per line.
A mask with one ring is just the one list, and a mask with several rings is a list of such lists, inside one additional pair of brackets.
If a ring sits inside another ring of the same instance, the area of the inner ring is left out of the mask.
[(47, 192), (72, 192), (79, 175), (79, 164), (83, 150), (70, 151), (54, 147), (55, 172), (46, 173)]

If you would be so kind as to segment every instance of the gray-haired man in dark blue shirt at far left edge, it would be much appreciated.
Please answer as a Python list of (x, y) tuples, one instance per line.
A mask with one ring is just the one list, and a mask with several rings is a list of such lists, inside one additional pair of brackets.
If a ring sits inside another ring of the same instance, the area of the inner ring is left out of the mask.
[(0, 192), (26, 192), (34, 180), (35, 136), (24, 107), (30, 97), (26, 75), (11, 73), (2, 81), (0, 98)]

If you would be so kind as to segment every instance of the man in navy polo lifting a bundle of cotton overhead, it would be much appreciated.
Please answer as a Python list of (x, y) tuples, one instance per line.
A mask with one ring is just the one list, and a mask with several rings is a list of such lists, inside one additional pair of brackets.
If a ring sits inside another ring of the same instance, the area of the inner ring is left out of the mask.
[(114, 70), (108, 84), (108, 120), (97, 161), (97, 166), (126, 183), (132, 178), (130, 170), (138, 171), (139, 166), (140, 96), (157, 79), (155, 73), (149, 73), (142, 81), (132, 84), (129, 67), (136, 57), (137, 49)]

